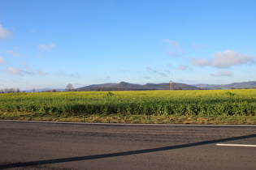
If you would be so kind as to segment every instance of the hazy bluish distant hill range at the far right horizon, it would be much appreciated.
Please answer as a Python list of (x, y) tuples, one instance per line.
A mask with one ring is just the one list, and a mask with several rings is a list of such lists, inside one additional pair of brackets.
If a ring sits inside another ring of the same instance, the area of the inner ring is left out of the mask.
[(231, 89), (231, 88), (256, 88), (256, 81), (231, 83), (231, 84), (195, 84), (202, 89)]

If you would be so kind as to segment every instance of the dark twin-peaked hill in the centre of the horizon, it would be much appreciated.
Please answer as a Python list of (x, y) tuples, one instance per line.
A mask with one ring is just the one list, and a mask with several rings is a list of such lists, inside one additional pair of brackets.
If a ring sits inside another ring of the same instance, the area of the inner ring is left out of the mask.
[[(145, 91), (145, 90), (168, 90), (169, 83), (146, 83), (145, 85), (133, 83), (104, 83), (93, 84), (86, 87), (76, 88), (76, 91)], [(174, 90), (197, 90), (194, 87), (184, 83), (175, 83)]]

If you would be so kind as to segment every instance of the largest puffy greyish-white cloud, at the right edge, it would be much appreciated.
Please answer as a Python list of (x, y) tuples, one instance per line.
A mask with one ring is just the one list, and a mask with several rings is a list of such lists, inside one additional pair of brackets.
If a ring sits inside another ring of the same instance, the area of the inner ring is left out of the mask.
[(221, 69), (226, 69), (232, 66), (243, 64), (254, 64), (255, 59), (242, 53), (232, 50), (217, 52), (213, 54), (213, 58), (206, 60), (205, 58), (193, 58), (193, 66), (213, 66)]

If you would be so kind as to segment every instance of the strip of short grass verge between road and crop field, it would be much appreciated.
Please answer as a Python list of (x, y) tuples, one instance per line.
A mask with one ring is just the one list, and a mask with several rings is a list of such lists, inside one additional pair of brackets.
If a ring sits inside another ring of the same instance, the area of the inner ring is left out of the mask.
[(183, 125), (256, 125), (255, 116), (163, 116), (163, 115), (119, 115), (94, 114), (67, 116), (48, 113), (2, 113), (2, 120), (23, 121), (72, 121), (90, 123), (127, 124), (183, 124)]

